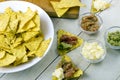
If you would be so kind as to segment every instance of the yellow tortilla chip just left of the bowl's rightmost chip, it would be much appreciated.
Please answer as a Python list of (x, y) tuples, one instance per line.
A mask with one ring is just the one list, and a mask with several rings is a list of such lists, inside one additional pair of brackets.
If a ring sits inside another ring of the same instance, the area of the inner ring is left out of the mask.
[(30, 50), (30, 51), (35, 51), (38, 49), (40, 43), (43, 40), (43, 36), (39, 36), (37, 38), (32, 38), (28, 42), (25, 43), (25, 46)]

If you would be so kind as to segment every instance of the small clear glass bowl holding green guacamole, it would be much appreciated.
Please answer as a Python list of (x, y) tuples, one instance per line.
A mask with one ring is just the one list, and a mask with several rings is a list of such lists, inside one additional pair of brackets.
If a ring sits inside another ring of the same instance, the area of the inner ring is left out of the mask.
[[(113, 43), (109, 43), (108, 42), (108, 34), (109, 33), (113, 33), (113, 32), (116, 32), (116, 31), (119, 31), (120, 32), (120, 27), (119, 26), (113, 26), (113, 27), (110, 27), (108, 28), (106, 31), (105, 31), (105, 35), (104, 35), (104, 39), (105, 39), (105, 43), (112, 49), (120, 49), (120, 45), (119, 46), (115, 46), (115, 45), (112, 45)], [(118, 34), (117, 34), (118, 35)], [(120, 34), (119, 34), (120, 35)], [(114, 35), (115, 37), (115, 35)], [(117, 44), (120, 44), (120, 38), (119, 38), (119, 43)]]

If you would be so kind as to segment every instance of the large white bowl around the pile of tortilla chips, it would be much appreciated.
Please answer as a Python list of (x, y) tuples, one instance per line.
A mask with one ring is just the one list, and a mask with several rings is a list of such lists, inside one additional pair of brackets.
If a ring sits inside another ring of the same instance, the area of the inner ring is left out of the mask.
[[(1, 2), (0, 3), (0, 13), (4, 12), (4, 10), (7, 7), (11, 7), (14, 11), (23, 11), (25, 12), (27, 10), (28, 7), (30, 7), (33, 11), (37, 10), (38, 14), (40, 15), (40, 20), (41, 20), (41, 29), (42, 32), (44, 34), (45, 39), (51, 38), (51, 42), (50, 45), (48, 47), (48, 49), (46, 50), (44, 56), (47, 54), (47, 52), (49, 51), (52, 43), (53, 43), (53, 38), (54, 38), (54, 28), (53, 28), (53, 23), (51, 21), (51, 19), (49, 18), (49, 16), (46, 14), (46, 12), (41, 9), (40, 7), (29, 3), (29, 2), (25, 2), (25, 1), (5, 1), (5, 2)], [(44, 57), (43, 56), (43, 57)], [(25, 70), (33, 65), (35, 65), (36, 63), (38, 63), (39, 61), (41, 61), (41, 59), (43, 58), (34, 58), (32, 61), (29, 61), (25, 64), (21, 64), (19, 66), (15, 66), (15, 67), (0, 67), (0, 73), (12, 73), (12, 72), (18, 72), (18, 71), (22, 71)]]

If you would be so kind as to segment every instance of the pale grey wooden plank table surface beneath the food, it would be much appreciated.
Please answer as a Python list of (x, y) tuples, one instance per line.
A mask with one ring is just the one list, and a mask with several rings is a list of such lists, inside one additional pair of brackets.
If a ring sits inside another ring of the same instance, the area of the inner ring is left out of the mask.
[[(81, 0), (87, 4), (86, 8), (81, 8), (80, 14), (90, 11), (91, 0)], [(64, 29), (84, 39), (99, 39), (104, 43), (105, 30), (111, 26), (120, 26), (120, 0), (106, 0), (111, 2), (111, 7), (99, 15), (103, 19), (102, 30), (95, 35), (87, 35), (80, 31), (78, 19), (51, 18), (54, 24), (54, 43), (38, 64), (21, 72), (0, 74), (0, 80), (51, 80), (52, 72), (60, 60), (57, 54), (56, 32)], [(80, 16), (79, 16), (80, 17)], [(78, 80), (120, 80), (120, 50), (112, 50), (106, 46), (107, 55), (105, 59), (97, 64), (90, 64), (80, 56), (80, 47), (69, 52), (68, 55), (73, 62), (84, 71), (84, 75)]]

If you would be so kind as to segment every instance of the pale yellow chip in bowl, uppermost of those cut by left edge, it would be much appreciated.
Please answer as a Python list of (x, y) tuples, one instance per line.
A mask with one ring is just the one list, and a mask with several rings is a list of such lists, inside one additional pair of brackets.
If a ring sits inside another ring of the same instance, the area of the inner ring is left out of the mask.
[(0, 32), (4, 32), (7, 29), (10, 16), (8, 14), (0, 15)]

